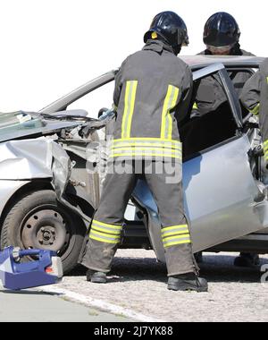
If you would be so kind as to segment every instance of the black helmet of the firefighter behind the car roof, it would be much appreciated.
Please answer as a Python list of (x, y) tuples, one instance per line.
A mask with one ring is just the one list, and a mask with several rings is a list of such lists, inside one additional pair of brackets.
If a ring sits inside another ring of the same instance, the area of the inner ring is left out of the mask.
[(214, 13), (205, 23), (203, 40), (206, 46), (231, 47), (239, 42), (239, 38), (239, 25), (229, 13)]

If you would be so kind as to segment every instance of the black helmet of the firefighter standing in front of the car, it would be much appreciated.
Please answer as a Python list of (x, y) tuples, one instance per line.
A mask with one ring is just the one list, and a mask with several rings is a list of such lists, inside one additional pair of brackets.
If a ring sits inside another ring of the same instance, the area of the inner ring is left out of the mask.
[(157, 14), (151, 23), (150, 30), (148, 30), (144, 36), (144, 42), (147, 43), (148, 39), (156, 38), (157, 35), (163, 38), (173, 49), (178, 49), (178, 47), (182, 45), (188, 45), (186, 24), (180, 16), (174, 12), (168, 11)]

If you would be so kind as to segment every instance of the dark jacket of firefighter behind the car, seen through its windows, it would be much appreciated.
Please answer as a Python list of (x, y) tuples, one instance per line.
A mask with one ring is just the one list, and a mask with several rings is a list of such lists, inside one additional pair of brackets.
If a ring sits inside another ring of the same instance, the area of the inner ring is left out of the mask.
[[(199, 55), (212, 55), (209, 50), (201, 52)], [(252, 55), (251, 53), (240, 49), (239, 44), (233, 47), (230, 55)], [(249, 72), (234, 71), (229, 72), (230, 79), (236, 89), (238, 95), (241, 94), (243, 85), (251, 77)], [(197, 89), (196, 105), (194, 108), (198, 110), (198, 115), (205, 115), (215, 111), (219, 106), (226, 102), (226, 94), (222, 89), (222, 82), (217, 74), (206, 77), (200, 82)]]

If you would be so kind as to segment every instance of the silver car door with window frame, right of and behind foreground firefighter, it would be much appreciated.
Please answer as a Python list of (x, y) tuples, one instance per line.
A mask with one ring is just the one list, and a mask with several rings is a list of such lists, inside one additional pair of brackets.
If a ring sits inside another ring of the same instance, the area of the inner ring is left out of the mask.
[[(198, 150), (183, 163), (184, 203), (195, 252), (261, 230), (268, 225), (268, 202), (265, 199), (259, 200), (259, 185), (249, 164), (248, 151), (251, 145), (247, 134), (242, 132), (239, 98), (228, 72), (223, 64), (214, 64), (194, 72), (194, 81), (211, 75), (216, 75), (221, 81), (234, 129), (233, 135), (228, 135), (226, 140), (222, 138), (208, 148)], [(217, 125), (217, 121), (214, 124)], [(198, 146), (198, 140), (196, 142)], [(147, 210), (151, 243), (157, 258), (164, 260), (161, 223), (146, 183), (138, 183), (133, 199), (140, 208)]]

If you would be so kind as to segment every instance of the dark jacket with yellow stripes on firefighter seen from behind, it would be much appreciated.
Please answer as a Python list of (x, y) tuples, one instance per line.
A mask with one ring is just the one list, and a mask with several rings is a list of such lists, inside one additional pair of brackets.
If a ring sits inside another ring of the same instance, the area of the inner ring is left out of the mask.
[(158, 40), (130, 55), (115, 78), (111, 157), (181, 159), (178, 124), (192, 92), (188, 65)]

